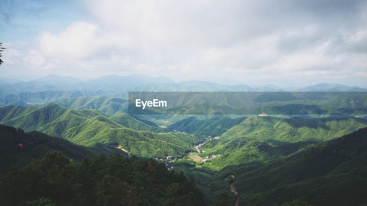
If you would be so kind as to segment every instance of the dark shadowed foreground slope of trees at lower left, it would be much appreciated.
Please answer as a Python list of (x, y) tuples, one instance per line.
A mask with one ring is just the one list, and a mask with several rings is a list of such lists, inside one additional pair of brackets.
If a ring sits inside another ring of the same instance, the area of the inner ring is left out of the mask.
[(205, 204), (183, 173), (105, 144), (111, 151), (4, 125), (0, 142), (0, 206)]

